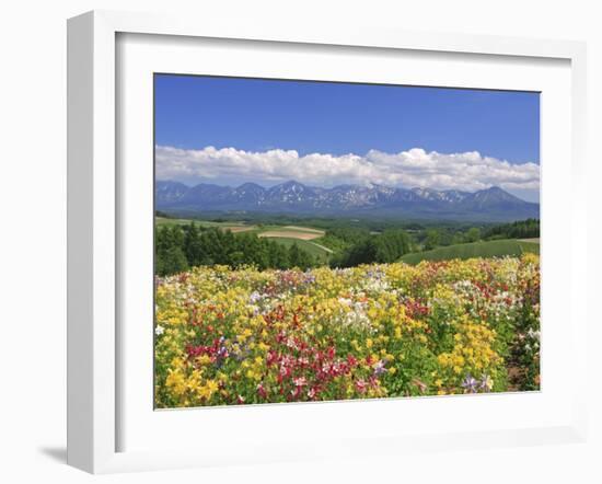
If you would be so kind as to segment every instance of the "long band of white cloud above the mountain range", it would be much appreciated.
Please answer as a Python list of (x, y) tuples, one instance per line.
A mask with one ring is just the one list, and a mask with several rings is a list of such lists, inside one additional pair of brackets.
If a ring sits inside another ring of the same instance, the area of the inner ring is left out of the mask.
[(155, 148), (157, 178), (186, 183), (253, 181), (271, 185), (288, 180), (315, 186), (378, 183), (412, 188), (477, 191), (493, 185), (536, 194), (540, 166), (512, 164), (476, 151), (444, 154), (414, 148), (400, 153), (371, 150), (364, 155), (310, 153), (294, 150), (251, 152), (234, 148), (184, 150)]

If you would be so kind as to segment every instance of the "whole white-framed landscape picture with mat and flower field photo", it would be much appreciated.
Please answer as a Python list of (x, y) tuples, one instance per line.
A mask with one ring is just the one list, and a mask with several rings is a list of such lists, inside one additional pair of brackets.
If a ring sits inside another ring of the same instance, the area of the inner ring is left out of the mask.
[(91, 12), (68, 48), (70, 464), (584, 438), (582, 44)]

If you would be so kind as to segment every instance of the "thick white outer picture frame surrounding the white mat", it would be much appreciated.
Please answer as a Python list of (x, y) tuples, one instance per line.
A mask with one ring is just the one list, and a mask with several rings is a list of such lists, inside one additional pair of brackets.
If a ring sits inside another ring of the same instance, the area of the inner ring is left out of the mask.
[[(420, 57), (428, 53), (441, 56), (466, 54), (486, 58), (513, 58), (529, 65), (536, 59), (553, 59), (567, 64), (570, 71), (570, 122), (568, 132), (568, 155), (570, 162), (564, 166), (570, 175), (572, 205), (567, 208), (570, 217), (570, 235), (566, 246), (570, 250), (567, 277), (570, 278), (570, 334), (572, 345), (571, 370), (583, 369), (587, 346), (587, 313), (584, 307), (575, 303), (578, 287), (587, 280), (586, 251), (587, 210), (584, 191), (586, 151), (586, 47), (582, 43), (565, 41), (536, 41), (493, 36), (466, 36), (455, 34), (427, 35), (410, 32), (381, 31), (378, 28), (299, 26), (283, 28), (275, 24), (230, 25), (213, 21), (198, 23), (194, 19), (167, 18), (165, 15), (142, 15), (134, 13), (95, 11), (69, 20), (68, 23), (68, 463), (93, 473), (132, 470), (170, 469), (182, 466), (220, 465), (229, 463), (277, 462), (315, 457), (336, 458), (359, 453), (359, 447), (370, 439), (373, 453), (403, 453), (408, 449), (445, 450), (453, 448), (477, 448), (548, 442), (582, 441), (586, 436), (584, 396), (575, 392), (570, 402), (564, 403), (566, 415), (549, 425), (539, 423), (529, 426), (522, 423), (517, 428), (425, 431), (412, 435), (392, 430), (387, 435), (363, 429), (357, 437), (346, 436), (343, 446), (309, 445), (300, 441), (287, 450), (279, 442), (268, 441), (269, 433), (258, 437), (255, 448), (231, 451), (225, 446), (213, 449), (190, 448), (124, 450), (119, 434), (125, 425), (121, 405), (126, 392), (119, 368), (123, 366), (125, 347), (119, 329), (120, 292), (124, 280), (119, 268), (124, 265), (120, 238), (124, 219), (119, 197), (121, 147), (116, 134), (123, 128), (119, 118), (117, 38), (119, 35), (171, 36), (176, 39), (238, 39), (246, 43), (278, 43), (279, 45), (312, 46), (315, 51), (333, 46), (337, 48), (370, 49), (370, 51), (412, 51)], [(157, 37), (160, 38), (160, 37)], [(166, 37), (163, 37), (166, 38)], [(545, 128), (544, 128), (545, 129)], [(560, 132), (559, 135), (563, 135)], [(545, 157), (545, 152), (544, 152)], [(545, 186), (544, 175), (544, 186)], [(552, 177), (549, 178), (552, 180)], [(129, 183), (129, 182), (128, 182)], [(552, 186), (552, 185), (551, 185)], [(123, 200), (121, 200), (123, 201)], [(543, 205), (545, 214), (545, 205)], [(545, 215), (543, 219), (545, 224)], [(552, 252), (551, 252), (552, 253)], [(128, 276), (129, 277), (129, 276)], [(137, 277), (134, 275), (132, 277)], [(545, 276), (544, 276), (545, 277)], [(584, 291), (583, 291), (584, 293)], [(545, 338), (545, 335), (544, 335)], [(544, 339), (545, 341), (545, 339)], [(544, 343), (545, 345), (545, 343)], [(134, 349), (138, 352), (138, 349)], [(544, 349), (545, 352), (545, 346)], [(584, 378), (584, 371), (575, 371), (575, 379)], [(127, 380), (126, 380), (127, 381)], [(545, 388), (543, 392), (545, 392)], [(499, 405), (517, 405), (517, 395), (490, 395), (500, 399)], [(394, 405), (381, 404), (379, 412), (392, 412)], [(437, 405), (432, 400), (416, 400), (414, 407)], [(535, 402), (536, 403), (536, 402)], [(334, 418), (338, 413), (328, 405), (313, 405), (303, 410), (296, 405), (294, 412), (310, 412), (314, 418), (320, 414)], [(343, 403), (347, 408), (360, 408), (357, 403)], [(375, 402), (361, 402), (374, 405)], [(488, 404), (491, 404), (490, 402)], [(493, 403), (496, 405), (497, 403)], [(383, 406), (386, 405), (386, 406)], [(464, 404), (456, 404), (465, 406)], [(473, 405), (474, 406), (474, 405)], [(570, 411), (569, 411), (570, 407)], [(270, 410), (271, 408), (271, 410)], [(236, 419), (265, 418), (266, 412), (279, 413), (291, 418), (292, 413), (266, 405), (266, 408), (245, 408)], [(340, 407), (337, 407), (340, 408)], [(433, 406), (435, 408), (435, 406)], [(152, 411), (152, 408), (150, 408)], [(220, 410), (223, 412), (223, 408)], [(241, 410), (229, 410), (232, 412)], [(349, 410), (347, 410), (349, 412)], [(359, 412), (359, 411), (358, 411)], [(466, 412), (466, 408), (462, 410)], [(185, 422), (184, 411), (178, 412), (177, 425)], [(174, 415), (174, 414), (172, 414)], [(216, 418), (219, 418), (217, 415)], [(360, 414), (361, 415), (361, 414)], [(566, 417), (566, 418), (565, 418)], [(297, 416), (294, 417), (297, 418)], [(361, 418), (361, 416), (359, 417)], [(172, 417), (173, 419), (173, 417)], [(269, 424), (268, 424), (269, 425)], [(177, 427), (174, 427), (177, 428)], [(180, 431), (180, 430), (177, 430)], [(259, 450), (263, 453), (259, 453)], [(363, 452), (366, 449), (363, 449)]]

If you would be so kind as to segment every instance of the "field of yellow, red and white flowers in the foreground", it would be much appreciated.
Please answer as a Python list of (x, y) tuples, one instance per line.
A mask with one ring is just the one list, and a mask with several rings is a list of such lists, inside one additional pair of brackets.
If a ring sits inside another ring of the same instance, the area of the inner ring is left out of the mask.
[(157, 278), (159, 408), (537, 390), (540, 262)]

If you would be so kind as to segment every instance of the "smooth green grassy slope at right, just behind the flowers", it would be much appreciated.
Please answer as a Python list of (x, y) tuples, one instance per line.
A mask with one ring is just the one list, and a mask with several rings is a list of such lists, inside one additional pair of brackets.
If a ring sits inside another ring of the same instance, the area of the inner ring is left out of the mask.
[(404, 255), (401, 261), (407, 264), (418, 264), (420, 261), (448, 261), (451, 258), (496, 257), (502, 255), (520, 255), (523, 252), (540, 253), (540, 244), (519, 240), (493, 240), (450, 245), (427, 252), (416, 252)]

